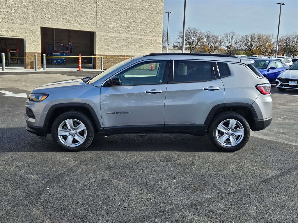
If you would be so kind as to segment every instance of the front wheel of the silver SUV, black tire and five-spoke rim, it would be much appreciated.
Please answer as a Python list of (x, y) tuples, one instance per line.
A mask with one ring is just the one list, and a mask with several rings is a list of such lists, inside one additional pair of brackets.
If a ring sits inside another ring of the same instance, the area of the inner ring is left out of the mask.
[(94, 127), (88, 116), (81, 112), (71, 111), (56, 118), (51, 134), (52, 139), (61, 149), (81, 151), (91, 144), (94, 138)]

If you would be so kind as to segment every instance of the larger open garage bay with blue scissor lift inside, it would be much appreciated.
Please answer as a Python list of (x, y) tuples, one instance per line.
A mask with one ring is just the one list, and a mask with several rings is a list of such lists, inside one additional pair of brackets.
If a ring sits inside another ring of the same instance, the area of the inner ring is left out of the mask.
[(41, 54), (51, 68), (78, 68), (81, 54), (82, 68), (91, 69), (94, 32), (41, 27)]

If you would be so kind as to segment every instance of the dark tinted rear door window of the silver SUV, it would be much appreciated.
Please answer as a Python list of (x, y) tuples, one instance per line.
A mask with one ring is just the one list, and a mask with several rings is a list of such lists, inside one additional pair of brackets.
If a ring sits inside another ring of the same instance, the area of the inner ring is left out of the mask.
[(212, 62), (194, 60), (174, 61), (173, 83), (209, 81), (215, 78)]

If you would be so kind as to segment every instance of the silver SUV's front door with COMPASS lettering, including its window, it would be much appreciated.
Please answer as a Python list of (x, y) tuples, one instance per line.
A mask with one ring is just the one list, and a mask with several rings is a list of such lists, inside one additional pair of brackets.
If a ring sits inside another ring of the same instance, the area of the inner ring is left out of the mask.
[(169, 61), (145, 61), (116, 76), (120, 86), (101, 88), (101, 115), (107, 132), (164, 131)]

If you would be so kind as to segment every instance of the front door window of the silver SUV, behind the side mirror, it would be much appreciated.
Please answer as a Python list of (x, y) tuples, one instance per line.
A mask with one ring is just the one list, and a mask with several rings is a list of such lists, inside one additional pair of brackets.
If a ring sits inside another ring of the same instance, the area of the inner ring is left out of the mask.
[(142, 62), (116, 76), (121, 85), (160, 84), (163, 81), (167, 61)]

